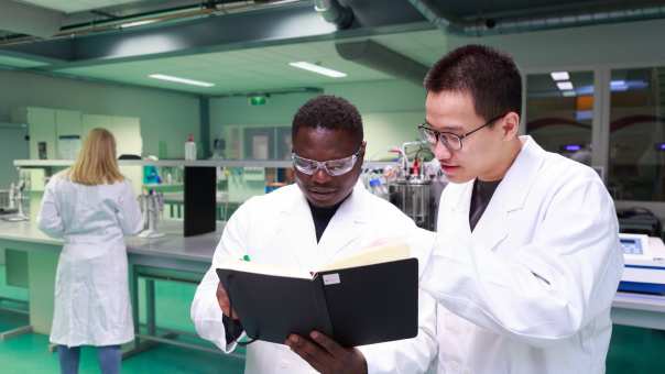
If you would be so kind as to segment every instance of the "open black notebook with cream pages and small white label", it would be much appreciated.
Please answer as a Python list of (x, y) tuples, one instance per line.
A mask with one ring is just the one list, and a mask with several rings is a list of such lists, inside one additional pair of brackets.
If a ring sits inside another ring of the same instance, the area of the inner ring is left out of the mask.
[(317, 330), (356, 346), (417, 334), (418, 262), (404, 253), (386, 246), (313, 274), (227, 261), (217, 275), (249, 338), (283, 344)]

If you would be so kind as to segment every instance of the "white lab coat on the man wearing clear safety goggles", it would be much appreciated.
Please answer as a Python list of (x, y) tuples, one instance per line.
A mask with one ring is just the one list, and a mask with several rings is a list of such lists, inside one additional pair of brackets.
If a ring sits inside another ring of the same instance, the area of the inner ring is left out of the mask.
[[(317, 244), (314, 221), (306, 198), (296, 185), (282, 187), (269, 195), (253, 197), (243, 204), (227, 223), (221, 241), (196, 290), (192, 304), (192, 320), (198, 334), (214, 342), (220, 350), (231, 352), (236, 343), (227, 346), (222, 314), (216, 298), (217, 264), (231, 256), (241, 258), (249, 254), (252, 262), (312, 271), (358, 253), (385, 238), (406, 235), (415, 224), (390, 202), (356, 186), (351, 196), (339, 207), (320, 242)], [(412, 253), (423, 271), (429, 256), (434, 235), (415, 231), (408, 237)], [(416, 243), (417, 244), (414, 244)], [(422, 273), (421, 273), (422, 274)], [(419, 331), (414, 339), (364, 345), (363, 353), (369, 373), (423, 373), (436, 356), (435, 304), (425, 293), (418, 302)], [(247, 374), (315, 373), (314, 369), (293, 353), (288, 346), (257, 341), (247, 348)]]

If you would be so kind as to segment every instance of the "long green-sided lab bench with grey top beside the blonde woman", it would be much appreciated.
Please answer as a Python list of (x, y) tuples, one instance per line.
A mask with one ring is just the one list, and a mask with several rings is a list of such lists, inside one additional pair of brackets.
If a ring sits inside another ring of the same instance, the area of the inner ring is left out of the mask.
[[(132, 299), (132, 312), (137, 339), (124, 356), (139, 353), (155, 343), (168, 343), (185, 348), (219, 353), (211, 344), (201, 345), (178, 340), (182, 336), (195, 336), (192, 331), (157, 328), (155, 314), (155, 282), (178, 282), (193, 286), (198, 284), (211, 263), (215, 249), (221, 237), (224, 223), (217, 223), (217, 230), (195, 237), (183, 235), (183, 222), (164, 220), (159, 231), (162, 238), (126, 238), (129, 284)], [(48, 334), (53, 316), (54, 282), (57, 260), (63, 241), (42, 233), (34, 222), (0, 221), (0, 248), (12, 254), (23, 254), (26, 261), (19, 262), (15, 270), (26, 274), (25, 286), (29, 289), (29, 323), (12, 331), (0, 332), (0, 340), (15, 334), (36, 332)], [(15, 262), (14, 262), (15, 263)], [(8, 273), (12, 263), (7, 264)], [(140, 326), (139, 290), (144, 284), (145, 326)]]

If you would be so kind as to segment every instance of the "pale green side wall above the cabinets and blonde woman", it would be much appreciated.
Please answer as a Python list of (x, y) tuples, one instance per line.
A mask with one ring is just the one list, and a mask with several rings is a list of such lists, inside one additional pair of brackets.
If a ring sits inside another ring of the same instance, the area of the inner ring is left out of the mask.
[(9, 122), (20, 107), (140, 118), (143, 152), (157, 155), (162, 143), (170, 158), (184, 157), (187, 134), (200, 138), (194, 96), (12, 70), (0, 70), (0, 122)]

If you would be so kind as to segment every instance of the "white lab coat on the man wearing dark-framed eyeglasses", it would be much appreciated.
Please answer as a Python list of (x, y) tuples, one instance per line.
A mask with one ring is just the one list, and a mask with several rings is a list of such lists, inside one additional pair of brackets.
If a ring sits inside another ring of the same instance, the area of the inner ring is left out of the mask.
[(530, 136), (473, 232), (473, 182), (441, 195), (422, 287), (439, 373), (604, 373), (623, 268), (614, 205), (589, 167)]

